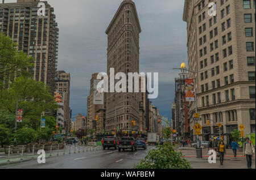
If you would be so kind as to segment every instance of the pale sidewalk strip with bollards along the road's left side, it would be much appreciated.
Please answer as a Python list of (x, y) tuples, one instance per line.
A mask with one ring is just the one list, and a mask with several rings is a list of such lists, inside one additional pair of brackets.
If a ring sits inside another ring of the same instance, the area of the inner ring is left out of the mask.
[[(97, 148), (95, 147), (90, 147), (88, 145), (88, 147), (83, 147), (80, 146), (80, 148), (76, 145), (76, 153), (79, 152), (86, 152), (86, 151), (96, 151), (96, 150), (100, 150), (101, 146), (97, 146)], [(71, 149), (70, 149), (71, 153), (75, 153), (75, 146), (72, 145)], [(45, 151), (46, 152), (46, 158), (50, 157), (50, 151)], [(38, 158), (38, 156), (40, 156), (39, 154), (37, 154), (38, 152), (34, 152), (34, 155), (32, 155), (31, 153), (23, 153), (23, 157), (21, 153), (15, 153), (15, 154), (10, 154), (10, 158), (8, 161), (8, 154), (5, 154), (5, 152), (0, 152), (0, 168), (1, 165), (5, 165), (5, 164), (11, 164), (11, 163), (18, 163), (18, 162), (24, 162), (24, 161), (30, 161), (30, 160), (35, 160)], [(59, 149), (59, 150), (53, 150), (51, 153), (51, 157), (54, 156), (61, 156), (64, 153), (64, 149)], [(69, 146), (67, 145), (67, 147), (65, 148), (65, 154), (69, 153)]]

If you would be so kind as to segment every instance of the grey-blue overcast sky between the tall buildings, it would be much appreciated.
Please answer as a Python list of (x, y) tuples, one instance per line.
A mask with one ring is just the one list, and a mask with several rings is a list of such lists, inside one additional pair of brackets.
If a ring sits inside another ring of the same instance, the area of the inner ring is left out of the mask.
[[(48, 0), (59, 27), (58, 70), (71, 73), (72, 117), (86, 114), (90, 79), (106, 72), (106, 28), (123, 0)], [(184, 0), (133, 0), (142, 32), (140, 72), (159, 73), (159, 96), (152, 99), (160, 115), (171, 117), (174, 78), (187, 63), (187, 25), (183, 22)], [(6, 0), (16, 2), (15, 0)]]

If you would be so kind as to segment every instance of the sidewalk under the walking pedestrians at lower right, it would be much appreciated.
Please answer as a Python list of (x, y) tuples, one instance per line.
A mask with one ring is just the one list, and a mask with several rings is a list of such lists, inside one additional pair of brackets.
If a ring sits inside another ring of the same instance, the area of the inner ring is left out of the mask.
[[(237, 152), (237, 158), (234, 158), (232, 149), (226, 149), (224, 156), (224, 165), (220, 165), (220, 159), (216, 157), (216, 163), (208, 162), (208, 148), (203, 149), (203, 158), (196, 158), (196, 149), (193, 147), (179, 147), (185, 158), (191, 163), (193, 169), (247, 169), (246, 157), (243, 152)], [(251, 168), (255, 169), (255, 155)]]

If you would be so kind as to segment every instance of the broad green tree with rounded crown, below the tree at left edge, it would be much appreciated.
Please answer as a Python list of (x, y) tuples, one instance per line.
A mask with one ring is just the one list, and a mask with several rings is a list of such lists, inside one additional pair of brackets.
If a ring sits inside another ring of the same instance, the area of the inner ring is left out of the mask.
[(18, 108), (23, 109), (23, 121), (18, 123), (19, 128), (25, 125), (34, 128), (40, 126), (42, 112), (53, 112), (57, 109), (54, 97), (43, 82), (36, 82), (24, 77), (16, 78), (9, 89), (0, 92), (0, 109), (6, 109), (15, 114), (16, 101), (30, 99), (32, 101), (19, 101)]

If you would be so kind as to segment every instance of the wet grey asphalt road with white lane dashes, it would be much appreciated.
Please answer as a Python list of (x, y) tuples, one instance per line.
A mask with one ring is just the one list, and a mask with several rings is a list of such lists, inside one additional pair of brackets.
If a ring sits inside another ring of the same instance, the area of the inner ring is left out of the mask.
[(0, 168), (10, 169), (131, 169), (146, 156), (147, 149), (139, 148), (131, 152), (130, 149), (118, 152), (115, 149), (98, 150), (90, 152), (66, 153), (65, 155), (46, 158), (45, 164), (35, 160), (18, 162), (16, 164), (1, 165)]

